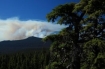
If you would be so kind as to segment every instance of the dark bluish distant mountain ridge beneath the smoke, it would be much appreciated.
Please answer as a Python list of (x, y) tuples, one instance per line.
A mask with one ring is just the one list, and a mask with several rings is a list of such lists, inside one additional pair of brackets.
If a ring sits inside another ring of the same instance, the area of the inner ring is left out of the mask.
[(29, 37), (23, 40), (0, 42), (0, 53), (18, 52), (28, 49), (49, 48), (51, 42), (43, 42), (41, 38)]

